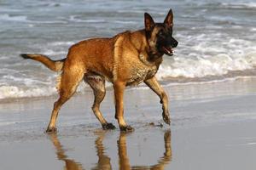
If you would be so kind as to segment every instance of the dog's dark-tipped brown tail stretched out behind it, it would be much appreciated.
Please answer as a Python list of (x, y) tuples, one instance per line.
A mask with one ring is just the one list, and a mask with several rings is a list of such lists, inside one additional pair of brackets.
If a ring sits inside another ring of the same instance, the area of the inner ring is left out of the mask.
[(52, 60), (49, 59), (46, 55), (42, 54), (20, 54), (20, 57), (23, 59), (34, 59), (41, 63), (43, 63), (45, 66), (47, 66), (51, 71), (62, 71), (64, 62), (66, 59), (59, 59), (59, 60)]

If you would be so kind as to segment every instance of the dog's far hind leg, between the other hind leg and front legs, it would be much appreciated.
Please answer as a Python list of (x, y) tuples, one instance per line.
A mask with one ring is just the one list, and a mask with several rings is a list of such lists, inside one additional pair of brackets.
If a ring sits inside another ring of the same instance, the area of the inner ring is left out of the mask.
[(90, 88), (93, 89), (93, 94), (95, 98), (91, 109), (96, 118), (102, 123), (102, 128), (114, 129), (115, 127), (113, 126), (113, 124), (108, 123), (102, 116), (102, 112), (100, 111), (100, 105), (106, 94), (104, 77), (97, 75), (85, 75), (84, 82), (87, 82), (90, 85)]

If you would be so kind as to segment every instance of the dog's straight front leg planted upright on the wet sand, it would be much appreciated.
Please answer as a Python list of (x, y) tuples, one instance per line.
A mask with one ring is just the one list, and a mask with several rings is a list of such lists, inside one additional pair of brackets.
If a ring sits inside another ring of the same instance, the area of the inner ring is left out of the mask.
[(126, 125), (124, 119), (124, 91), (125, 82), (114, 82), (114, 100), (115, 100), (115, 118), (119, 122), (119, 128), (121, 131), (133, 131), (131, 126)]

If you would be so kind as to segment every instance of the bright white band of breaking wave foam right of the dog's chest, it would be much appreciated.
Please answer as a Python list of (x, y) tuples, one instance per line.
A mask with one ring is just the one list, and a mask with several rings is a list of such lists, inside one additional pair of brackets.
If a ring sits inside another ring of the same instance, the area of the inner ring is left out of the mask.
[(207, 77), (223, 76), (230, 71), (245, 71), (256, 66), (256, 51), (232, 58), (228, 54), (218, 54), (211, 58), (175, 57), (172, 63), (160, 65), (157, 77)]

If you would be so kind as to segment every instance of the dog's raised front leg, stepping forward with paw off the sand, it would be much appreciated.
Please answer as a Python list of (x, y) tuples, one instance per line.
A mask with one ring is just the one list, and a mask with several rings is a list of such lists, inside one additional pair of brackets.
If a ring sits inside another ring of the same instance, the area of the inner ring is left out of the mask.
[(156, 80), (155, 77), (152, 77), (148, 80), (144, 81), (149, 88), (151, 88), (155, 94), (157, 94), (160, 97), (160, 103), (162, 104), (162, 109), (163, 109), (163, 120), (166, 122), (166, 124), (171, 123), (170, 120), (170, 114), (168, 110), (168, 98), (166, 95), (166, 92), (164, 91), (163, 88), (160, 87), (160, 83)]

